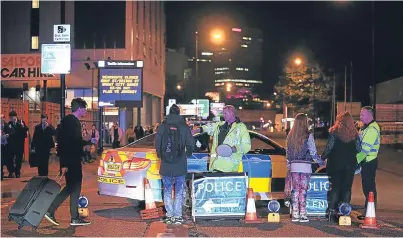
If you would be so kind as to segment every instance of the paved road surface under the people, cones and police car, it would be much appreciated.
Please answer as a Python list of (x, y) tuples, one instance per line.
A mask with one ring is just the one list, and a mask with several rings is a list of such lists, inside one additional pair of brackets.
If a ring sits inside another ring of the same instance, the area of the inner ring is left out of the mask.
[[(283, 143), (284, 135), (272, 134)], [(317, 141), (323, 147), (324, 141)], [(323, 146), (322, 146), (322, 145)], [(319, 149), (320, 150), (320, 149)], [(382, 150), (381, 150), (382, 151)], [(17, 230), (13, 222), (7, 220), (10, 206), (18, 196), (26, 181), (36, 174), (27, 164), (23, 167), (22, 178), (5, 179), (1, 184), (1, 236), (108, 236), (108, 237), (268, 237), (268, 236), (403, 236), (403, 164), (402, 153), (384, 150), (380, 155), (381, 163), (377, 182), (379, 189), (379, 207), (377, 220), (381, 230), (361, 230), (358, 224), (352, 227), (339, 227), (327, 221), (313, 219), (307, 224), (291, 223), (287, 214), (281, 215), (279, 224), (240, 224), (238, 221), (200, 221), (194, 224), (190, 220), (183, 226), (166, 226), (159, 221), (144, 222), (139, 219), (139, 211), (125, 199), (97, 195), (96, 167), (97, 164), (85, 165), (83, 192), (89, 199), (90, 226), (69, 227), (69, 201), (66, 201), (57, 211), (56, 217), (60, 226), (52, 226), (46, 220), (37, 231), (24, 228)], [(51, 175), (55, 177), (58, 163), (52, 161)], [(399, 172), (400, 171), (400, 172)], [(363, 202), (360, 178), (357, 176), (353, 187), (353, 204)], [(285, 210), (285, 209), (283, 209)], [(264, 208), (258, 209), (260, 216), (265, 217)]]

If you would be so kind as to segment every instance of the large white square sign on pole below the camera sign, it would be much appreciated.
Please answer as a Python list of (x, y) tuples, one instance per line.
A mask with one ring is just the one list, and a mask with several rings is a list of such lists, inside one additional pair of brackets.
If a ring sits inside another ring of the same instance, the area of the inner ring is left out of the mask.
[(70, 70), (70, 44), (42, 44), (41, 72), (43, 74), (69, 74)]

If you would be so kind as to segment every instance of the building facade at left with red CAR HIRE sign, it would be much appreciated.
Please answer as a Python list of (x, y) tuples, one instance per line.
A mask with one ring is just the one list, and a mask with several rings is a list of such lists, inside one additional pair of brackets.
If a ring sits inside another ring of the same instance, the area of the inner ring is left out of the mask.
[[(41, 45), (53, 43), (53, 26), (62, 20), (71, 25), (71, 73), (66, 75), (66, 105), (80, 96), (87, 102), (95, 102), (90, 107), (96, 107), (98, 70), (94, 62), (141, 60), (144, 62), (141, 121), (143, 125), (160, 122), (165, 92), (163, 2), (2, 2), (1, 54), (2, 62), (8, 62), (2, 64), (1, 70), (3, 94), (18, 97), (23, 83), (28, 83), (29, 88), (40, 85), (42, 90), (46, 80), (48, 101), (60, 101), (59, 75), (46, 77), (38, 68), (41, 67)], [(86, 63), (91, 67), (87, 68)], [(38, 70), (23, 75), (9, 73), (15, 69)], [(136, 124), (137, 110), (128, 114), (131, 115), (128, 121)]]

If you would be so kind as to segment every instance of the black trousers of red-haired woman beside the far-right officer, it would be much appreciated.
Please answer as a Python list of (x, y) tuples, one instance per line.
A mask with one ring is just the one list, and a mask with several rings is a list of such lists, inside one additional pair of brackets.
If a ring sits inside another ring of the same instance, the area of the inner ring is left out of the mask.
[(340, 203), (350, 203), (354, 171), (354, 169), (328, 171), (329, 182), (331, 184), (328, 192), (329, 209), (337, 211)]

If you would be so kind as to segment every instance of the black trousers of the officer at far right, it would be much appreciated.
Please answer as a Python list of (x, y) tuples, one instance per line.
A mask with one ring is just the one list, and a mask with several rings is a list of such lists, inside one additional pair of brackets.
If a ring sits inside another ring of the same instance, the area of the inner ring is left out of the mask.
[(376, 194), (376, 170), (378, 168), (378, 158), (373, 159), (369, 162), (364, 162), (361, 164), (361, 178), (362, 178), (362, 191), (365, 196), (365, 210), (367, 209), (369, 192), (374, 193), (375, 206), (377, 202)]

